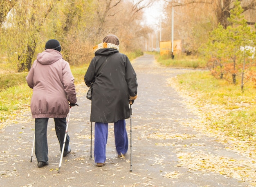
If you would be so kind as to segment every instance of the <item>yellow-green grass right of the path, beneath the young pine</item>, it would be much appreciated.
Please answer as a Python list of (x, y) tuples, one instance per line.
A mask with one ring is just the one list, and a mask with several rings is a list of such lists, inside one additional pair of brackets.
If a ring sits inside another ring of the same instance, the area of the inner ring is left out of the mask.
[(179, 89), (193, 98), (193, 105), (208, 119), (208, 128), (244, 139), (256, 133), (255, 88), (240, 87), (214, 78), (209, 71), (179, 75)]

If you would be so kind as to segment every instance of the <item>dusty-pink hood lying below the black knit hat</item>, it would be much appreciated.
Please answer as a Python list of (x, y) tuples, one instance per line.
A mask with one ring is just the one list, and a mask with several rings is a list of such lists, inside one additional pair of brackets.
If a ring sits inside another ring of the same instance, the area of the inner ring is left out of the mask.
[(42, 65), (53, 64), (54, 62), (58, 61), (62, 58), (60, 52), (54, 49), (46, 49), (42, 53), (37, 55), (37, 61)]

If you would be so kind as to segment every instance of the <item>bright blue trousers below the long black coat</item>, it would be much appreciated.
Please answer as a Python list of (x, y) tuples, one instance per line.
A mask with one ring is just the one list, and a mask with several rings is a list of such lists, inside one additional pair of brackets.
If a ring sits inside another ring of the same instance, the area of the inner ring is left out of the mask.
[[(128, 136), (125, 120), (119, 120), (114, 123), (114, 132), (117, 153), (126, 154), (128, 150)], [(106, 161), (108, 123), (95, 122), (94, 138), (94, 161), (95, 163), (104, 163)]]

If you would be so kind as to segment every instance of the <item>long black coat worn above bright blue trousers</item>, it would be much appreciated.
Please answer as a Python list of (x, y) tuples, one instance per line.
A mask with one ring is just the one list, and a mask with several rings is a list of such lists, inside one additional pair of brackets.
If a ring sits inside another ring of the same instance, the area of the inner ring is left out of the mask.
[(113, 123), (130, 117), (129, 98), (137, 96), (138, 84), (126, 55), (114, 48), (99, 49), (84, 80), (87, 86), (94, 81), (90, 121)]

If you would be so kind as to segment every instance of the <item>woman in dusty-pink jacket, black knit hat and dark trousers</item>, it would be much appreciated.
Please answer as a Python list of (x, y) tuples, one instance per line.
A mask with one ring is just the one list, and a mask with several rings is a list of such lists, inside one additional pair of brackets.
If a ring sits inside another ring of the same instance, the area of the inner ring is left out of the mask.
[[(48, 119), (54, 118), (55, 131), (62, 150), (66, 117), (70, 106), (76, 105), (74, 77), (60, 51), (58, 40), (48, 40), (45, 51), (37, 55), (26, 77), (28, 86), (33, 89), (30, 106), (32, 117), (35, 118), (35, 154), (38, 167), (48, 165)], [(69, 140), (67, 135), (63, 156), (71, 152)]]

